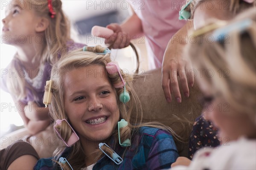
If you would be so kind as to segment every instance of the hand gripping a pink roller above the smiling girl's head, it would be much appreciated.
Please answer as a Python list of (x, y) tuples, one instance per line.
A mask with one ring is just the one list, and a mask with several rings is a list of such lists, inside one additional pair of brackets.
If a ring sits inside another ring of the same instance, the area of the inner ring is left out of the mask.
[(107, 26), (107, 28), (114, 31), (112, 35), (105, 36), (105, 43), (110, 44), (112, 48), (125, 48), (130, 44), (130, 37), (127, 33), (122, 31), (120, 25), (113, 23)]

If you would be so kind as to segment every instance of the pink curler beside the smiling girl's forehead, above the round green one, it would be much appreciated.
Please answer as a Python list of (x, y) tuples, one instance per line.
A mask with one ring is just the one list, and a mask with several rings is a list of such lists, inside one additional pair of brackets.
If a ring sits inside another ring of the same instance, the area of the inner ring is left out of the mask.
[(114, 85), (115, 88), (121, 88), (121, 87), (125, 86), (125, 80), (122, 78), (122, 75), (120, 73), (120, 70), (119, 70), (120, 68), (119, 68), (118, 62), (116, 62), (116, 61), (109, 62), (106, 65), (106, 69), (108, 71), (108, 74), (115, 74), (116, 72), (118, 72), (119, 76), (122, 79), (122, 82)]

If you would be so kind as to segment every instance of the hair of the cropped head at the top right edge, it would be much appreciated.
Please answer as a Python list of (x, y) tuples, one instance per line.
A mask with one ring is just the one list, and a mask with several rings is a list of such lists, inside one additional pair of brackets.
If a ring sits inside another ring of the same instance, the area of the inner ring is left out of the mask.
[[(191, 0), (187, 0), (186, 3), (189, 3)], [(193, 2), (190, 3), (184, 10), (190, 12), (191, 16), (190, 18), (193, 19), (195, 8), (198, 8), (198, 3), (200, 4), (201, 0), (192, 0)], [(210, 1), (210, 0), (207, 0)], [(205, 1), (204, 1), (205, 2)], [(221, 1), (220, 1), (221, 2)], [(227, 2), (227, 3), (225, 3)], [(184, 5), (185, 6), (185, 5)], [(253, 3), (247, 3), (244, 0), (225, 0), (222, 1), (219, 5), (220, 8), (223, 8), (223, 10), (227, 10), (227, 19), (231, 16), (235, 16), (236, 14), (239, 14), (240, 12), (246, 10), (247, 8), (250, 8), (252, 6), (256, 6), (256, 2)]]

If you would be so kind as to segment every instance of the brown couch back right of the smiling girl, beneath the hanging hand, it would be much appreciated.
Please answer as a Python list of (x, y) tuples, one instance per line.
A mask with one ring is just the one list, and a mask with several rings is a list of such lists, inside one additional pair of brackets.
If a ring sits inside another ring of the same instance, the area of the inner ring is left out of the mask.
[(188, 156), (188, 139), (195, 118), (201, 114), (202, 107), (198, 102), (201, 96), (197, 85), (189, 88), (189, 98), (184, 97), (180, 88), (182, 103), (177, 103), (174, 96), (167, 103), (162, 88), (160, 69), (147, 71), (144, 78), (135, 81), (135, 88), (143, 106), (143, 119), (158, 121), (171, 127), (182, 139), (175, 139), (180, 156)]

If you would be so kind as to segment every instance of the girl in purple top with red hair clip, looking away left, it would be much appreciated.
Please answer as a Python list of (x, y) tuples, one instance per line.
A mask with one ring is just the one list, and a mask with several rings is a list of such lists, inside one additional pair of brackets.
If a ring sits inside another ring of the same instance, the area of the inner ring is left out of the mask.
[(61, 0), (13, 0), (2, 22), (2, 40), (14, 45), (17, 53), (1, 75), (1, 88), (12, 95), (33, 135), (50, 124), (49, 109), (42, 103), (44, 85), (61, 49), (74, 47), (69, 21)]

